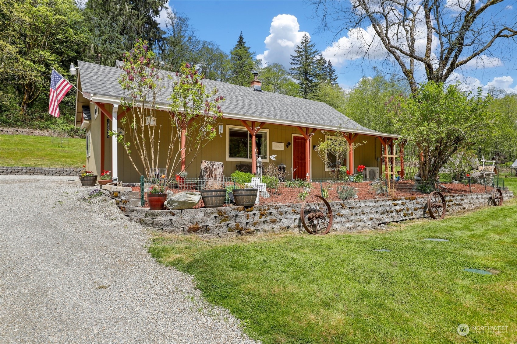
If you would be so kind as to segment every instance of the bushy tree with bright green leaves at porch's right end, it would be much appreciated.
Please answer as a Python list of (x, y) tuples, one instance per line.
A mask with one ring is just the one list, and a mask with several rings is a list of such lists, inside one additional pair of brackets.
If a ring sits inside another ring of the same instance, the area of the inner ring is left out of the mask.
[(390, 103), (390, 116), (402, 139), (423, 152), (419, 177), (434, 181), (452, 154), (482, 143), (494, 132), (496, 115), (488, 111), (492, 97), (481, 89), (472, 95), (458, 85), (428, 82), (409, 97)]

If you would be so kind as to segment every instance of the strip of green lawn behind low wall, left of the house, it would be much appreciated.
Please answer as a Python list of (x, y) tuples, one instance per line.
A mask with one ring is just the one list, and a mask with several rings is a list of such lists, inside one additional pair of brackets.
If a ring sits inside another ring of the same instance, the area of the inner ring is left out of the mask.
[(0, 135), (0, 166), (81, 167), (84, 138)]

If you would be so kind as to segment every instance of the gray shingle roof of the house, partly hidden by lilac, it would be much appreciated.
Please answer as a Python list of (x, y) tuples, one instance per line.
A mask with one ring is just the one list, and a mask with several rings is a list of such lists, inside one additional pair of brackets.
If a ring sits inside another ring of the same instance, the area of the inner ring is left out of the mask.
[[(82, 91), (96, 96), (109, 96), (120, 98), (123, 96), (121, 86), (118, 84), (121, 70), (116, 67), (108, 67), (79, 61), (80, 84)], [(165, 72), (164, 75), (165, 76)], [(165, 89), (158, 97), (158, 102), (168, 104), (167, 98), (172, 93), (173, 80), (164, 80)], [(296, 98), (266, 91), (255, 91), (251, 87), (237, 86), (214, 80), (205, 79), (203, 83), (207, 90), (216, 87), (219, 96), (224, 96), (221, 103), (223, 116), (248, 118), (270, 123), (289, 123), (291, 125), (307, 126), (316, 129), (334, 129), (369, 133), (373, 135), (396, 137), (397, 135), (383, 134), (365, 128), (357, 122), (344, 116), (331, 106), (313, 100)]]

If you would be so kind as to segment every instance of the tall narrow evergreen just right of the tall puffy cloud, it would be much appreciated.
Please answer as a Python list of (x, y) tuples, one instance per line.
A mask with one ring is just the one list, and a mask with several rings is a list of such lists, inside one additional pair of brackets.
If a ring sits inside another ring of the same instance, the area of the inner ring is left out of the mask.
[(290, 71), (300, 85), (300, 95), (308, 99), (318, 86), (318, 72), (316, 56), (318, 51), (315, 43), (311, 43), (308, 35), (303, 36), (300, 44), (296, 45), (295, 55), (291, 55)]

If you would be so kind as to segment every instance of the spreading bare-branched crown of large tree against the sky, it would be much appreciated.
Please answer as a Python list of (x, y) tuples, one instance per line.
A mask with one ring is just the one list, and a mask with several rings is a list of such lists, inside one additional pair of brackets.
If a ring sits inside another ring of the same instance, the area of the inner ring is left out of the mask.
[[(507, 2), (503, 0), (312, 3), (325, 28), (339, 33), (348, 31), (349, 38), (360, 45), (347, 49), (362, 52), (367, 58), (378, 58), (383, 55), (378, 48), (383, 47), (400, 67), (413, 93), (418, 91), (419, 68), (424, 71), (425, 80), (445, 82), (459, 68), (497, 61), (501, 45), (515, 46), (512, 38), (517, 37), (515, 10), (505, 11)], [(369, 55), (370, 52), (376, 56)]]

